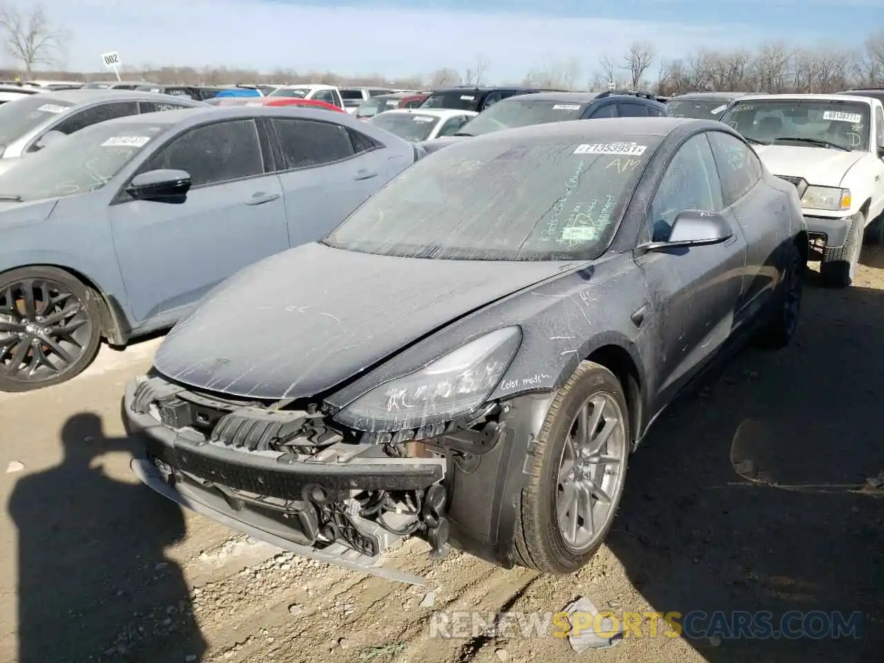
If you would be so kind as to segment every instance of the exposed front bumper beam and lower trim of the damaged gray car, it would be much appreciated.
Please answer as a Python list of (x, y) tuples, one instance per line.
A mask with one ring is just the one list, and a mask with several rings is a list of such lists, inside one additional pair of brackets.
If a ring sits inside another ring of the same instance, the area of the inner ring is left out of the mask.
[[(284, 550), (400, 582), (423, 583), (415, 575), (381, 565), (383, 552), (403, 536), (354, 513), (351, 497), (358, 492), (427, 489), (445, 477), (443, 457), (392, 458), (376, 445), (343, 440), (309, 454), (298, 453), (297, 447), (261, 448), (266, 431), (278, 430), (266, 425), (269, 420), (291, 423), (306, 413), (248, 406), (227, 408), (215, 430), (232, 422), (237, 431), (249, 426), (252, 431), (218, 440), (192, 426), (176, 429), (163, 423), (157, 399), (170, 397), (202, 400), (203, 414), (206, 411), (205, 397), (161, 378), (129, 383), (123, 398), (126, 430), (145, 443), (146, 458), (133, 461), (132, 469), (150, 488)], [(320, 514), (333, 512), (333, 519), (317, 517), (317, 509)], [(396, 528), (408, 524), (408, 516), (393, 514), (393, 519), (398, 520), (389, 524)], [(330, 523), (338, 537), (327, 535)]]

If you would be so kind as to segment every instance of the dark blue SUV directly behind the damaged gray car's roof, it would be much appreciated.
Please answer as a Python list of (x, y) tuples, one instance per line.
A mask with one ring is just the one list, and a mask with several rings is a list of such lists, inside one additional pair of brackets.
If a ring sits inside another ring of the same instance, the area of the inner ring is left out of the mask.
[(424, 141), (428, 152), (470, 136), (481, 136), (517, 126), (543, 125), (596, 118), (661, 118), (667, 108), (652, 95), (628, 90), (609, 92), (535, 92), (500, 100), (461, 126), (453, 136)]

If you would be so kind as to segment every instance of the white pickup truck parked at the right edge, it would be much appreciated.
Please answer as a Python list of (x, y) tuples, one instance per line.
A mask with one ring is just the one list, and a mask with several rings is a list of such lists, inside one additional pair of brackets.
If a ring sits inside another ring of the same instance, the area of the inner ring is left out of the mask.
[(853, 282), (863, 240), (884, 243), (884, 106), (852, 95), (750, 95), (721, 116), (798, 189), (819, 273)]

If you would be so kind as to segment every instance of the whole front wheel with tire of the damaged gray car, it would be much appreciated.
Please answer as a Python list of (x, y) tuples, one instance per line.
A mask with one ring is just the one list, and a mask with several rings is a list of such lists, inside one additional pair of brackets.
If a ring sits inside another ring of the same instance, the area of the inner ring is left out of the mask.
[(617, 377), (582, 362), (556, 394), (516, 519), (515, 561), (545, 573), (581, 568), (604, 541), (623, 492), (629, 414)]

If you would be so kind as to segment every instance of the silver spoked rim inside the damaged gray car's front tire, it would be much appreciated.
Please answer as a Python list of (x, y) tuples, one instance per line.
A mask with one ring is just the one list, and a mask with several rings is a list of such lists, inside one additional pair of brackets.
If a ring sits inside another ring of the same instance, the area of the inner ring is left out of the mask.
[(556, 511), (572, 552), (598, 545), (613, 519), (629, 453), (624, 416), (613, 395), (597, 392), (571, 423), (559, 464)]

